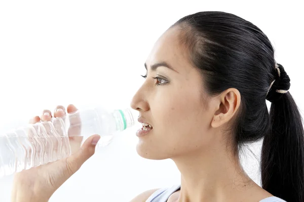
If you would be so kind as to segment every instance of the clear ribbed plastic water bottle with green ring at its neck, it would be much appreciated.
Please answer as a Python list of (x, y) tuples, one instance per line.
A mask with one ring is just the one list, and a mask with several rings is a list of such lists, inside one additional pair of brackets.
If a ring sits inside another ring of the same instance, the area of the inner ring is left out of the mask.
[(93, 134), (101, 136), (97, 148), (106, 146), (114, 134), (133, 126), (135, 118), (131, 109), (97, 107), (0, 134), (0, 177), (68, 157)]

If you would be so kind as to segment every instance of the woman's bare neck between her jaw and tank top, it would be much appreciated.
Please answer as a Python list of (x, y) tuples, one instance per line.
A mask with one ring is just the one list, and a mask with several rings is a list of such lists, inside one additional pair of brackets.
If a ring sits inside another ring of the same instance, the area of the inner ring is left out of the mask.
[[(172, 159), (181, 172), (179, 201), (233, 201), (256, 185), (222, 145)], [(236, 200), (235, 200), (236, 201)]]

